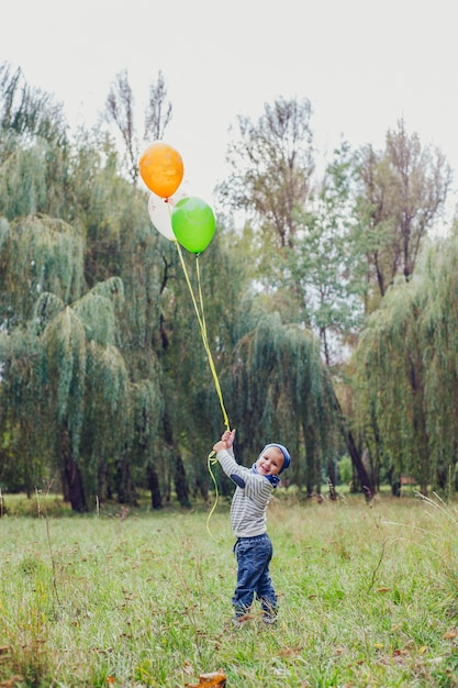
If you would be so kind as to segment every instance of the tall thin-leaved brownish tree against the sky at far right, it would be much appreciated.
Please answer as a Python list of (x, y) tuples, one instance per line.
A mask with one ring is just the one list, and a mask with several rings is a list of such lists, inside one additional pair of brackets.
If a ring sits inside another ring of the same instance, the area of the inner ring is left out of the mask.
[(378, 299), (396, 275), (410, 279), (422, 243), (439, 218), (451, 181), (440, 151), (422, 147), (403, 121), (389, 130), (383, 152), (359, 153), (361, 240)]

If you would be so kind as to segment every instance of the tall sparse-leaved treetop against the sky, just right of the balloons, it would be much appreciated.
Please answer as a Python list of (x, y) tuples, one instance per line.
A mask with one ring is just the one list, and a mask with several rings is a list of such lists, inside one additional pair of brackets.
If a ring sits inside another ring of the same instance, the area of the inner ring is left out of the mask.
[(314, 168), (311, 104), (278, 98), (266, 104), (257, 122), (238, 116), (238, 132), (227, 148), (233, 171), (220, 185), (221, 198), (256, 220), (264, 241), (291, 247), (297, 233), (294, 211), (303, 207)]

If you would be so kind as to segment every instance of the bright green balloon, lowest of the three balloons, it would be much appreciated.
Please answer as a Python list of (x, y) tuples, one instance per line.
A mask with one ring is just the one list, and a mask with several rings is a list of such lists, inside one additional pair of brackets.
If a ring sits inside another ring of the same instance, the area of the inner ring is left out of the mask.
[(216, 222), (205, 201), (190, 196), (182, 198), (171, 213), (171, 229), (177, 241), (191, 253), (202, 253), (210, 244)]

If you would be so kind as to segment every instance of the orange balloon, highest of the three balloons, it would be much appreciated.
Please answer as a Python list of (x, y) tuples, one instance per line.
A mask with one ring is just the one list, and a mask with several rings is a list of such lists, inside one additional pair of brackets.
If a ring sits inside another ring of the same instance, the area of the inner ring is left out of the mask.
[(174, 196), (185, 174), (181, 155), (161, 141), (155, 141), (146, 148), (138, 167), (143, 181), (160, 198)]

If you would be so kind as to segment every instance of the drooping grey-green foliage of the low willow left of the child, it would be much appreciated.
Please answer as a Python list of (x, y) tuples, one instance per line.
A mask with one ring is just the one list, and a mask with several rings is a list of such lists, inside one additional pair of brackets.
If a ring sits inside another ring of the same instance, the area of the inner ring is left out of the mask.
[(51, 392), (56, 437), (59, 428), (68, 430), (86, 490), (99, 498), (113, 488), (113, 459), (127, 451), (137, 433), (148, 437), (152, 432), (152, 421), (138, 425), (138, 414), (157, 414), (158, 397), (160, 409), (158, 386), (147, 380), (133, 385), (115, 346), (115, 302), (122, 293), (116, 278), (98, 284), (51, 321), (42, 337), (43, 385)]

